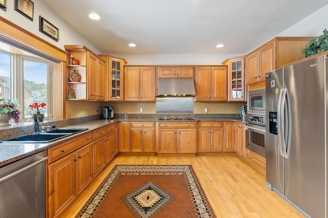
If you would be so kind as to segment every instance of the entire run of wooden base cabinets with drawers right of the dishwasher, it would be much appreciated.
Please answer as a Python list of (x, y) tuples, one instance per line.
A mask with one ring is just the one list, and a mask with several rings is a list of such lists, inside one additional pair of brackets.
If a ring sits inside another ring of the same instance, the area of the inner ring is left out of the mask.
[(47, 217), (59, 217), (117, 152), (117, 124), (49, 148)]

